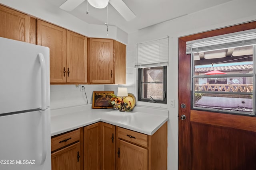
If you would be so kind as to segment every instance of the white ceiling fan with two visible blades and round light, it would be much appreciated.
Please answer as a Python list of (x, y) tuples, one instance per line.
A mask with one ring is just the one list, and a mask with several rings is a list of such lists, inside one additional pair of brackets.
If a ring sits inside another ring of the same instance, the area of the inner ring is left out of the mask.
[[(72, 11), (84, 1), (85, 0), (66, 0), (66, 2), (60, 6), (60, 9)], [(130, 21), (136, 17), (122, 0), (88, 0), (88, 2), (95, 8), (105, 8), (109, 2), (126, 21)], [(102, 6), (99, 5), (99, 2), (102, 2), (100, 3)]]

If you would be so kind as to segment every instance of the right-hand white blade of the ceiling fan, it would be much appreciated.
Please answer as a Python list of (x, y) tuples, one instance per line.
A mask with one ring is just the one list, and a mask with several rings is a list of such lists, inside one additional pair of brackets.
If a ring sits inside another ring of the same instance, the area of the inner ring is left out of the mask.
[(120, 13), (126, 21), (130, 21), (136, 17), (136, 15), (130, 10), (130, 8), (122, 0), (109, 0), (109, 3)]

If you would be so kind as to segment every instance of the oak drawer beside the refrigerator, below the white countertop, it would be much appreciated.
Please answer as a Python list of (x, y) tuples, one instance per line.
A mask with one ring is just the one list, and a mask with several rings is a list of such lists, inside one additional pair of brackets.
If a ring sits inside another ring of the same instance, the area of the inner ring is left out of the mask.
[(70, 143), (74, 143), (80, 140), (80, 129), (65, 133), (60, 136), (53, 137), (51, 139), (52, 151), (57, 150), (61, 147), (65, 147)]

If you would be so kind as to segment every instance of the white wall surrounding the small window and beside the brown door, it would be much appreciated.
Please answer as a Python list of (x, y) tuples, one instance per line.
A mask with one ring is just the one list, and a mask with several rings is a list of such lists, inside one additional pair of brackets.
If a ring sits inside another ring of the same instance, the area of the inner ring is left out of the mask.
[(174, 99), (175, 107), (170, 107), (168, 102), (168, 170), (178, 170), (178, 37), (256, 20), (255, 6), (256, 0), (233, 0), (128, 35), (126, 54), (128, 83), (136, 82), (132, 69), (136, 54), (135, 44), (166, 35), (170, 37), (167, 99), (168, 101)]

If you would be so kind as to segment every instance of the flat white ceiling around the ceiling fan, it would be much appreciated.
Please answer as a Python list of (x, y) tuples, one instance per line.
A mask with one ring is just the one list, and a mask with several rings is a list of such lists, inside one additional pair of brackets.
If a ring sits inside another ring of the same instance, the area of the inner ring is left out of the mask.
[[(44, 0), (59, 8), (66, 0)], [(119, 27), (126, 33), (155, 25), (181, 16), (205, 10), (232, 0), (123, 0), (134, 12), (136, 18), (126, 21), (112, 6), (108, 4), (108, 24)], [(230, 9), (227, 9), (230, 10)], [(97, 9), (88, 3), (89, 14), (86, 14), (86, 0), (73, 11), (68, 12), (89, 24), (104, 25), (106, 8)], [(216, 11), (218, 12), (218, 11)]]

